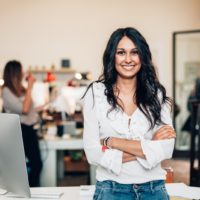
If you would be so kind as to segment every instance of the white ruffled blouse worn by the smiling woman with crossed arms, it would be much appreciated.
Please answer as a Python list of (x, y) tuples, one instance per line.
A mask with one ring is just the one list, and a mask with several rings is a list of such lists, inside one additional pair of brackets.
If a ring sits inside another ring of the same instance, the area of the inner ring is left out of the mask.
[[(172, 157), (174, 139), (151, 140), (162, 125), (149, 130), (149, 121), (139, 108), (131, 116), (119, 109), (107, 115), (111, 106), (104, 90), (103, 83), (94, 83), (84, 98), (84, 150), (88, 162), (97, 166), (96, 179), (124, 184), (164, 180), (166, 172), (160, 163)], [(162, 106), (161, 118), (172, 126), (168, 104)], [(108, 136), (140, 140), (146, 159), (137, 157), (134, 161), (122, 163), (122, 151), (107, 149), (102, 152), (100, 139)]]

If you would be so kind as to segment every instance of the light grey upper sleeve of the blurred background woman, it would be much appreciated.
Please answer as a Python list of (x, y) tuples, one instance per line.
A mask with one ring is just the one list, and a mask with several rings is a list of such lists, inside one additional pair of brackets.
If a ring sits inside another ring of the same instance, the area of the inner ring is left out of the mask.
[(3, 107), (5, 108), (6, 112), (22, 114), (23, 102), (20, 100), (20, 98), (15, 96), (10, 89), (3, 88), (2, 98)]

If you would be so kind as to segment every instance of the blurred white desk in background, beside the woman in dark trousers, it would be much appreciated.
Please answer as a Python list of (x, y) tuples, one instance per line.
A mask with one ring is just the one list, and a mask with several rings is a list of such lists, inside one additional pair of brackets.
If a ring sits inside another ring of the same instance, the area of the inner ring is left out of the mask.
[(40, 150), (43, 160), (41, 172), (41, 186), (57, 186), (57, 178), (64, 175), (64, 152), (62, 150), (83, 150), (82, 139), (46, 136), (40, 141)]

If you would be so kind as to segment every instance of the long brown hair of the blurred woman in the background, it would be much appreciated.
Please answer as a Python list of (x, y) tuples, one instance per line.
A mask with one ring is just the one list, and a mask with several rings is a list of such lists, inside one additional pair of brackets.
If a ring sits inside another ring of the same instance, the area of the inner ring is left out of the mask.
[(7, 62), (3, 72), (4, 87), (8, 87), (18, 97), (25, 93), (22, 78), (21, 63), (16, 60)]

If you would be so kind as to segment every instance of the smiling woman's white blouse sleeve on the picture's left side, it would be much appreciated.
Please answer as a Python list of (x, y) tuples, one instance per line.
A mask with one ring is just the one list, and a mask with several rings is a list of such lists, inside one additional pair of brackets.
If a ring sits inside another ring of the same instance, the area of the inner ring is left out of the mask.
[(84, 98), (84, 131), (83, 143), (87, 160), (90, 164), (101, 166), (108, 171), (119, 175), (122, 166), (122, 151), (107, 149), (102, 151), (100, 144), (99, 121), (95, 111), (93, 89), (90, 88)]

